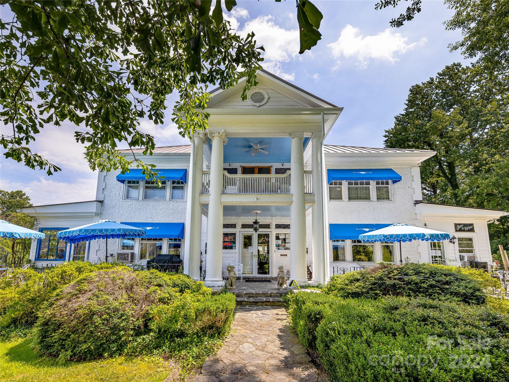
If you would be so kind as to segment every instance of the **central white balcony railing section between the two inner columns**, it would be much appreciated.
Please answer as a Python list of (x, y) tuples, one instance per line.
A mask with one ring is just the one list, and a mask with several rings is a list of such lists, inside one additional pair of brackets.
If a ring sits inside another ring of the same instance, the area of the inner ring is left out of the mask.
[(224, 194), (290, 194), (290, 171), (285, 174), (223, 173)]

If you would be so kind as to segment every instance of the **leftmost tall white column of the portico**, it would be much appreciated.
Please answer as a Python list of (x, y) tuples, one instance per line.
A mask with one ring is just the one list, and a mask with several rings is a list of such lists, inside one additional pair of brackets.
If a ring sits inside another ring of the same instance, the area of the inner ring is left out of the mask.
[(187, 184), (187, 213), (184, 238), (184, 273), (200, 280), (200, 244), (202, 241), (203, 143), (205, 131), (196, 131), (191, 142), (191, 160)]

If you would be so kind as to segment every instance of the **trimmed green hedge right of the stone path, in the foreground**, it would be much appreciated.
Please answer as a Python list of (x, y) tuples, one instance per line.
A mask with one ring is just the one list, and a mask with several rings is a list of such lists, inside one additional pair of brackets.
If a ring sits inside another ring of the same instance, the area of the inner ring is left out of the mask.
[[(326, 306), (321, 320), (306, 313), (318, 304)], [(297, 293), (290, 306), (296, 328), (317, 326), (315, 337), (297, 333), (332, 381), (509, 379), (509, 317), (488, 307), (406, 297), (322, 299), (310, 293)]]

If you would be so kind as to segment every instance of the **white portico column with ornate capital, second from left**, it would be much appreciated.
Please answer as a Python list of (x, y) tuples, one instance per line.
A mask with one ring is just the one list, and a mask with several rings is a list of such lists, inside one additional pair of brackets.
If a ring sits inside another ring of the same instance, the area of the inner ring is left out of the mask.
[(210, 159), (210, 201), (207, 221), (207, 258), (205, 285), (222, 286), (222, 205), (223, 188), (223, 145), (227, 143), (226, 130), (209, 130), (212, 141)]

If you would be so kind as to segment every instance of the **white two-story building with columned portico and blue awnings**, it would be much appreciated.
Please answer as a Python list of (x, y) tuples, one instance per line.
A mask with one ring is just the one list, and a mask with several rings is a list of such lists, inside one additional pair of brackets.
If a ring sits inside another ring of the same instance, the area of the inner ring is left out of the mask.
[[(59, 230), (114, 220), (150, 227), (142, 239), (108, 240), (108, 257), (143, 263), (178, 254), (194, 279), (222, 285), (227, 263), (247, 276), (275, 276), (277, 267), (323, 283), (345, 267), (377, 261), (492, 265), (487, 223), (504, 211), (422, 203), (419, 165), (435, 155), (404, 150), (323, 145), (343, 108), (262, 71), (242, 101), (243, 83), (212, 91), (208, 131), (187, 146), (134, 150), (165, 176), (158, 188), (140, 170), (100, 173), (96, 200), (26, 207), (46, 239), (34, 241), (41, 265), (105, 259), (104, 240), (66, 244)], [(127, 157), (133, 154), (124, 151)], [(260, 230), (253, 231), (254, 213)], [(393, 223), (456, 236), (451, 242), (360, 243), (361, 233)], [(407, 260), (408, 261), (408, 260)]]

